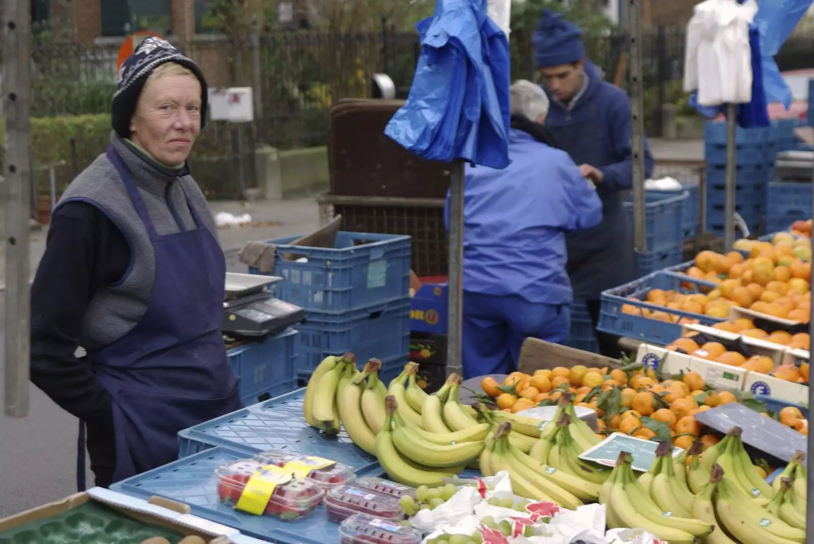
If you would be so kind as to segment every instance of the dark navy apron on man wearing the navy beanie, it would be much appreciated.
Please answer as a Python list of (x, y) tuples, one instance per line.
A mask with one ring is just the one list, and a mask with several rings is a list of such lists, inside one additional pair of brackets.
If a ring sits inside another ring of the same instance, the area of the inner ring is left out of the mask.
[[(609, 137), (597, 122), (593, 103), (587, 119), (574, 124), (546, 124), (555, 147), (571, 155), (579, 166), (590, 164), (600, 168), (616, 162), (610, 150)], [(570, 114), (566, 114), (566, 120)], [(586, 141), (594, 142), (585, 145)], [(596, 300), (602, 291), (633, 281), (637, 277), (637, 261), (633, 253), (632, 231), (622, 207), (622, 194), (597, 185), (602, 199), (602, 223), (596, 227), (566, 236), (568, 249), (567, 272), (574, 298)]]

